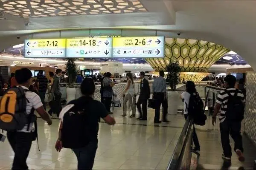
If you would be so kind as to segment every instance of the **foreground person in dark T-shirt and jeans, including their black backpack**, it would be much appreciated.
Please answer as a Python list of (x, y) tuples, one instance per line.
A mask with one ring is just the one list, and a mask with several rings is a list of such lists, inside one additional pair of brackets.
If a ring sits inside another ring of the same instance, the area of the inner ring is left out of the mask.
[[(114, 125), (105, 106), (93, 99), (95, 84), (85, 78), (81, 84), (79, 99), (71, 101), (60, 113), (61, 125), (55, 148), (70, 148), (78, 160), (78, 170), (91, 170), (98, 147), (99, 118), (108, 125)], [(95, 109), (96, 108), (96, 109)]]

